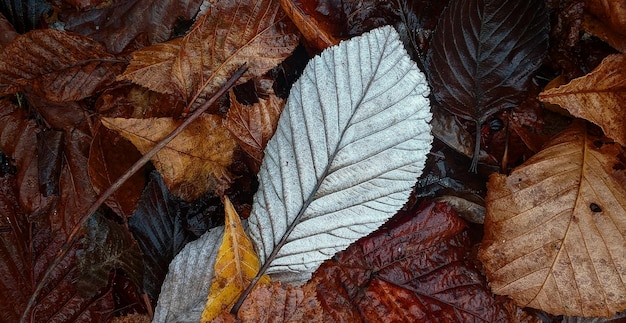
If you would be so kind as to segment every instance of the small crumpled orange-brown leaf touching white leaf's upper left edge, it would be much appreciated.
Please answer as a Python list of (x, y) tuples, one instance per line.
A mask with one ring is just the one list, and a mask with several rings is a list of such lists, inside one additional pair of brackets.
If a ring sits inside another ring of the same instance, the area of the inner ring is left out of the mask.
[(263, 161), (263, 150), (274, 135), (278, 118), (285, 100), (271, 94), (267, 99), (259, 98), (252, 106), (239, 103), (230, 92), (230, 110), (224, 126), (235, 136), (241, 148), (255, 161), (254, 172), (259, 171)]

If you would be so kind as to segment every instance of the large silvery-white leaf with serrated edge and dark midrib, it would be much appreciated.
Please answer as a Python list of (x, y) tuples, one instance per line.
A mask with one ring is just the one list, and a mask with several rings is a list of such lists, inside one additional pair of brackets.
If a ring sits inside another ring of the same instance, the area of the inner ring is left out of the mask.
[(273, 279), (305, 282), (402, 207), (432, 142), (427, 96), (393, 27), (308, 63), (265, 149), (249, 218)]

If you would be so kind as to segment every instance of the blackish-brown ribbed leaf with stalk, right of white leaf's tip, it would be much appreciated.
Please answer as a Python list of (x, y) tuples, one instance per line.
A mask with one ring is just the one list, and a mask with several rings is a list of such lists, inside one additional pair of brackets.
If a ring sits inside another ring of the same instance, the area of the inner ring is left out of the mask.
[(430, 42), (433, 95), (453, 114), (476, 123), (472, 170), (480, 127), (492, 115), (525, 99), (530, 76), (548, 49), (544, 1), (457, 0), (444, 11)]

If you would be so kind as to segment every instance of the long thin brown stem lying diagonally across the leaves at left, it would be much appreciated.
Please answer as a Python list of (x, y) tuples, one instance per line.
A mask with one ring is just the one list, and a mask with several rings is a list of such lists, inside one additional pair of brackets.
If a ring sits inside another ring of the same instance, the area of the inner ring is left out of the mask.
[[(167, 137), (165, 137), (156, 146), (154, 146), (152, 150), (150, 150), (145, 155), (143, 155), (143, 157), (137, 160), (137, 162), (135, 162), (133, 166), (131, 166), (124, 173), (124, 175), (118, 178), (115, 181), (115, 183), (111, 184), (111, 186), (98, 197), (98, 199), (89, 207), (89, 209), (83, 213), (83, 215), (80, 217), (76, 225), (74, 225), (74, 229), (72, 230), (72, 232), (70, 232), (67, 239), (65, 240), (65, 242), (63, 243), (59, 251), (57, 252), (57, 255), (55, 256), (54, 260), (52, 261), (50, 266), (48, 266), (48, 269), (44, 273), (43, 277), (35, 286), (35, 290), (33, 291), (33, 294), (28, 299), (26, 308), (24, 309), (24, 312), (22, 313), (22, 317), (20, 318), (20, 323), (26, 322), (26, 319), (29, 316), (31, 309), (33, 308), (33, 306), (35, 305), (37, 301), (37, 297), (39, 296), (39, 294), (41, 293), (41, 290), (45, 286), (45, 282), (50, 278), (53, 271), (61, 263), (61, 260), (63, 260), (63, 258), (65, 258), (65, 256), (68, 254), (69, 250), (74, 245), (74, 243), (76, 243), (80, 229), (82, 228), (83, 224), (87, 222), (87, 220), (91, 217), (91, 215), (94, 212), (96, 212), (96, 210), (98, 210), (98, 208), (102, 205), (102, 203), (104, 203), (106, 199), (108, 199), (111, 195), (113, 195), (113, 193), (115, 193), (115, 191), (117, 191), (117, 189), (119, 189), (120, 186), (122, 186), (130, 177), (132, 177), (136, 172), (138, 172), (145, 164), (147, 164), (150, 158), (154, 157), (154, 155), (156, 155), (161, 149), (163, 149), (168, 143), (170, 143), (172, 139), (174, 139), (185, 128), (187, 128), (189, 124), (191, 124), (196, 119), (198, 119), (211, 105), (213, 105), (213, 103), (215, 103), (215, 101), (217, 101), (224, 93), (226, 93), (226, 91), (228, 91), (231, 87), (233, 87), (233, 85), (235, 85), (235, 82), (237, 82), (237, 80), (243, 75), (243, 73), (246, 72), (247, 69), (248, 68), (246, 67), (246, 64), (243, 64), (241, 67), (239, 67), (239, 69), (237, 69), (235, 74), (233, 74), (233, 76), (231, 76), (228, 79), (228, 81), (219, 89), (219, 91), (217, 91), (200, 108), (196, 109), (193, 112), (193, 114), (191, 114), (187, 119), (185, 119), (185, 121), (182, 124), (180, 124), (176, 129), (174, 129), (174, 131), (172, 131)], [(189, 106), (191, 106), (193, 102), (194, 101), (190, 102)]]

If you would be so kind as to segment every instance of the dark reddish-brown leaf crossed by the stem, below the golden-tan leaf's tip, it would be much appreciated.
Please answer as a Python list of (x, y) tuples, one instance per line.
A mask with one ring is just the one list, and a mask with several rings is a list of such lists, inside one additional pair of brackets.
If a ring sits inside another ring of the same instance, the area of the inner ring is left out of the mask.
[[(94, 190), (100, 194), (120, 178), (137, 160), (141, 153), (114, 131), (99, 126), (89, 148), (89, 179)], [(124, 183), (106, 204), (121, 217), (130, 217), (146, 184), (139, 171)]]

